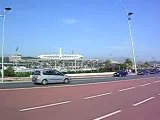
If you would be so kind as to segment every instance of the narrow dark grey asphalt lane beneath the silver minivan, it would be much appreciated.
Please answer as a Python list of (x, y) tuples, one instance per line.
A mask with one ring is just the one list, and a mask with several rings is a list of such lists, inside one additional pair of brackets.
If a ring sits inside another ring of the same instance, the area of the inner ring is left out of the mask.
[[(127, 77), (101, 77), (101, 78), (81, 78), (81, 79), (72, 79), (70, 85), (75, 84), (86, 84), (86, 83), (96, 83), (96, 82), (109, 82), (109, 81), (117, 81), (117, 80), (129, 80), (129, 79), (138, 79), (138, 78), (148, 78), (148, 77), (154, 77), (154, 76), (160, 76), (158, 74), (156, 75), (132, 75)], [(46, 86), (64, 86), (65, 84), (59, 83), (59, 84), (48, 84)], [(32, 88), (32, 87), (44, 87), (43, 85), (35, 85), (32, 82), (10, 82), (10, 83), (0, 83), (0, 89), (12, 89), (12, 88)]]

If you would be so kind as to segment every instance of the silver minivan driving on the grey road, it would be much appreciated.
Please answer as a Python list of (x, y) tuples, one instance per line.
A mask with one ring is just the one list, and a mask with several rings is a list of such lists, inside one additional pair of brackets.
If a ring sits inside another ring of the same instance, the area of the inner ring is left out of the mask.
[(36, 70), (32, 75), (33, 83), (46, 85), (48, 83), (70, 83), (70, 78), (57, 70)]

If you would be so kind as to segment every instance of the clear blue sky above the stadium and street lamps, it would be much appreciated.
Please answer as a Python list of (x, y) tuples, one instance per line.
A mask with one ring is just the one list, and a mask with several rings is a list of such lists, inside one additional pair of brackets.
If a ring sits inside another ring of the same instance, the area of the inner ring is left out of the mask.
[[(160, 60), (160, 1), (124, 0), (139, 60)], [(125, 10), (119, 0), (3, 0), (5, 54), (80, 53), (86, 58), (132, 57)], [(2, 18), (0, 18), (2, 26)], [(0, 30), (2, 36), (2, 30)], [(2, 38), (2, 37), (1, 37)], [(0, 39), (0, 42), (2, 39)]]

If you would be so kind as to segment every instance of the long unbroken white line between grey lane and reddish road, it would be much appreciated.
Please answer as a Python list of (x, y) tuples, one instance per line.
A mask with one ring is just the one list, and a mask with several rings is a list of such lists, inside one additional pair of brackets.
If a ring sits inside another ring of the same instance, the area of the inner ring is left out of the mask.
[(119, 81), (110, 81), (110, 82), (97, 82), (97, 83), (87, 83), (87, 84), (76, 84), (76, 85), (61, 85), (61, 86), (47, 86), (47, 87), (30, 87), (30, 88), (11, 88), (11, 89), (0, 89), (3, 91), (12, 91), (12, 90), (32, 90), (32, 89), (47, 89), (47, 88), (62, 88), (62, 87), (77, 87), (77, 86), (88, 86), (88, 85), (98, 85), (98, 84), (109, 84), (109, 83), (118, 83), (118, 82), (127, 82), (127, 81), (138, 81), (138, 80), (148, 80), (151, 78), (157, 77), (149, 77), (149, 78), (137, 78), (137, 79), (129, 79), (129, 80), (119, 80)]

